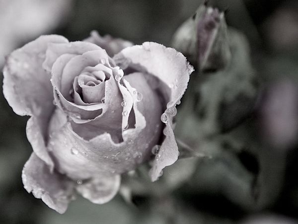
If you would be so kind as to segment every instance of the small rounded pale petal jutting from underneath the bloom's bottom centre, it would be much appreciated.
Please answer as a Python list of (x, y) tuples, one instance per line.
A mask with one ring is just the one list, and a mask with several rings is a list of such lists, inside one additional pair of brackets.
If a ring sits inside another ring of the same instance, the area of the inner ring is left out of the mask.
[(78, 193), (95, 204), (109, 202), (120, 187), (120, 175), (94, 177), (76, 187)]

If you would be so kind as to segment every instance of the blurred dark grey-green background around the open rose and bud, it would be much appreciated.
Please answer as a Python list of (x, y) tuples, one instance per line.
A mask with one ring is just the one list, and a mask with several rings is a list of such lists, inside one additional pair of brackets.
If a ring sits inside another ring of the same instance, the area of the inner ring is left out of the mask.
[[(0, 0), (0, 68), (7, 54), (42, 34), (76, 41), (97, 30), (170, 47), (176, 29), (202, 3)], [(141, 167), (124, 175), (111, 202), (94, 205), (78, 197), (60, 215), (23, 188), (21, 171), (32, 151), (28, 117), (14, 114), (0, 94), (0, 223), (298, 223), (298, 1), (208, 4), (226, 10), (226, 23), (234, 28), (232, 61), (204, 78), (192, 75), (178, 108), (176, 136), (182, 148), (209, 157), (187, 156), (155, 183)]]

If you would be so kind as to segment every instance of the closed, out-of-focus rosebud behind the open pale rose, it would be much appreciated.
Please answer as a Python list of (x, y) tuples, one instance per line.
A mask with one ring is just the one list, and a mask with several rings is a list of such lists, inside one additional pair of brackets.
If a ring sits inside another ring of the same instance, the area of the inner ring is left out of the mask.
[(172, 46), (200, 71), (223, 69), (231, 58), (224, 12), (201, 5), (177, 29)]

